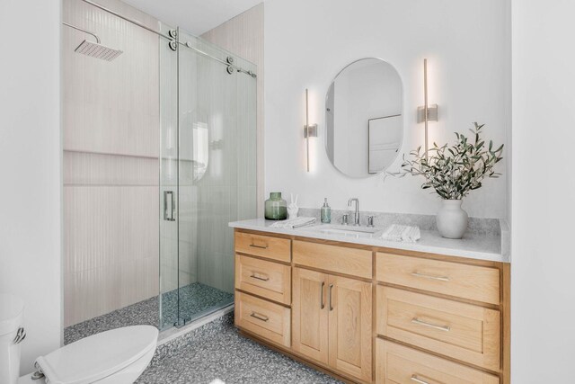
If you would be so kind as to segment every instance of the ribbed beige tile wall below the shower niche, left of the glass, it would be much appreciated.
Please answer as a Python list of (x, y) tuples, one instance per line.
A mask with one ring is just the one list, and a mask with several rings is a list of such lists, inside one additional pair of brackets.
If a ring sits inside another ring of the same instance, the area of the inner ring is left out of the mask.
[(65, 185), (64, 201), (66, 326), (157, 295), (157, 186)]

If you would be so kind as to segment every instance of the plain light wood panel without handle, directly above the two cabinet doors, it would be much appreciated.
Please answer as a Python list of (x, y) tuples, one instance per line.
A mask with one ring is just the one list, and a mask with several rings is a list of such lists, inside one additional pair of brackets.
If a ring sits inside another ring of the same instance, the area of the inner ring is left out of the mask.
[(372, 278), (371, 251), (294, 240), (294, 263), (325, 271)]

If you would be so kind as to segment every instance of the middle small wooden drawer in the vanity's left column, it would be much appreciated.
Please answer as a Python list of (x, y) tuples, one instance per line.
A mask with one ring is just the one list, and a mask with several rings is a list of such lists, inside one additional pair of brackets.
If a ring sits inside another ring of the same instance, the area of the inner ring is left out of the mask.
[(291, 302), (291, 267), (249, 256), (235, 255), (235, 288), (289, 305)]

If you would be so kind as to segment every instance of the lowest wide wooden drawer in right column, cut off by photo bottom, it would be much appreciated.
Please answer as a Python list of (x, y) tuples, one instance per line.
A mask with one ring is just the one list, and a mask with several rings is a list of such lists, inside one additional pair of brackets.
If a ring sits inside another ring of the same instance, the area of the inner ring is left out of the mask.
[(378, 384), (498, 384), (497, 376), (413, 350), (376, 340)]

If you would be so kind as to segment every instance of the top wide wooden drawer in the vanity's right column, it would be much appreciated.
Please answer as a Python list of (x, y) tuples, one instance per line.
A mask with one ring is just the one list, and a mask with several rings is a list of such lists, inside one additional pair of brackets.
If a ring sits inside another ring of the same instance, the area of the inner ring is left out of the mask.
[(376, 278), (458, 298), (500, 303), (500, 271), (496, 268), (377, 253)]

